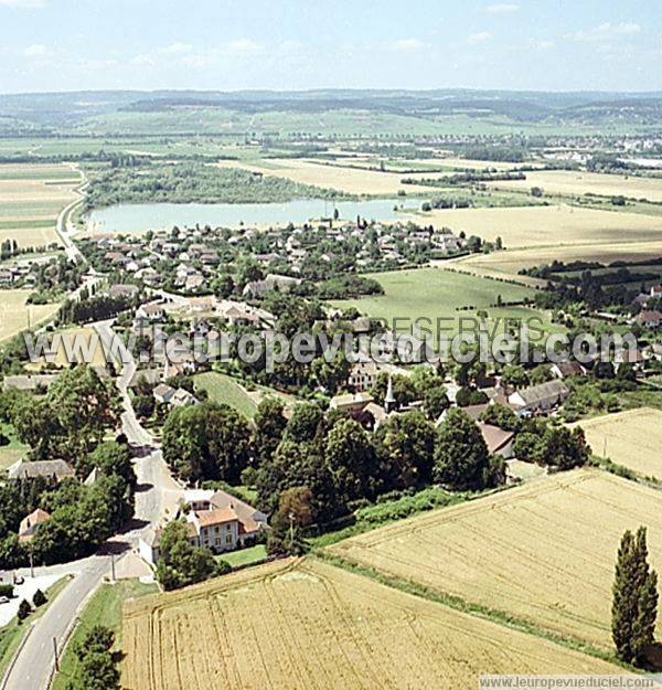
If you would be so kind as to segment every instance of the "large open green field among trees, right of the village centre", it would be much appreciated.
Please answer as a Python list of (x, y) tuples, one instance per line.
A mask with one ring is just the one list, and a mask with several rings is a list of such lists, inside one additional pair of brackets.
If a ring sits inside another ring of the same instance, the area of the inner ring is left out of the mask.
[(502, 302), (521, 302), (533, 299), (534, 290), (512, 285), (460, 274), (441, 268), (417, 268), (371, 274), (384, 287), (385, 295), (344, 299), (332, 302), (333, 307), (346, 309), (355, 307), (362, 314), (384, 319), (397, 331), (406, 332), (413, 322), (419, 320), (421, 332), (458, 332), (460, 319), (469, 328), (469, 320), (474, 320), (477, 311), (488, 312), (489, 320), (496, 319), (542, 319), (543, 327), (549, 328), (547, 316), (524, 306), (495, 307)]

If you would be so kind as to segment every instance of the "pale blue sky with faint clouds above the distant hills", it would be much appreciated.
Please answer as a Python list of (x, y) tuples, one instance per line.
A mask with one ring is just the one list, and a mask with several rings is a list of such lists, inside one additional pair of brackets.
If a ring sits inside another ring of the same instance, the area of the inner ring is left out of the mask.
[(662, 91), (660, 0), (0, 0), (0, 93)]

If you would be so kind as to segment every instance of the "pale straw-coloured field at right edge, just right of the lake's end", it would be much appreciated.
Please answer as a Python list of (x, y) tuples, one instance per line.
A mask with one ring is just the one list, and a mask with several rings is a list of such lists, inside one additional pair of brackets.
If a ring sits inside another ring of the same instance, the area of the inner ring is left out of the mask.
[[(662, 216), (557, 206), (438, 210), (416, 216), (506, 247), (662, 241)], [(413, 220), (416, 220), (413, 217)]]

